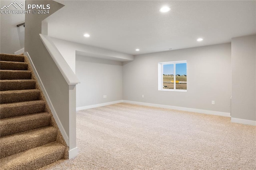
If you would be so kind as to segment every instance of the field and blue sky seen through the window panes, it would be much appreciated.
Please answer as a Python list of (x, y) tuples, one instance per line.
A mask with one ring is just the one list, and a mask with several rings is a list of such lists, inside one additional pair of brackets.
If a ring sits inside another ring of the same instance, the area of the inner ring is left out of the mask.
[(163, 65), (163, 89), (174, 89), (174, 81), (176, 89), (187, 89), (187, 63), (176, 63), (175, 71), (174, 64)]

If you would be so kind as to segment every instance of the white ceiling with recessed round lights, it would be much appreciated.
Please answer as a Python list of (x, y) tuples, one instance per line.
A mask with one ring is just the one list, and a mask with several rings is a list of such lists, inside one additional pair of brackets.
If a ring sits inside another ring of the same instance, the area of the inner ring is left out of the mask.
[(256, 34), (256, 1), (56, 1), (65, 6), (46, 19), (49, 36), (132, 55)]

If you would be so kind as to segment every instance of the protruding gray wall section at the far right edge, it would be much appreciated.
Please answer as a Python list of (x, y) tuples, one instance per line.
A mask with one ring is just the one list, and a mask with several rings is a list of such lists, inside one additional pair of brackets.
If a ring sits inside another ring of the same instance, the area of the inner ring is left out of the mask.
[(232, 38), (232, 118), (256, 121), (256, 35)]

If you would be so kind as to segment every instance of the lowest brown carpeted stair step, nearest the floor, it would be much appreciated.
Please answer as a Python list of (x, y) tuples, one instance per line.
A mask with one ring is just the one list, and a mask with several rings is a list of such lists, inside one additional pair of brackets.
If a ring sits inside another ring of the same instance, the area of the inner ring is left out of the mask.
[(65, 146), (51, 142), (0, 159), (3, 170), (35, 170), (64, 157)]

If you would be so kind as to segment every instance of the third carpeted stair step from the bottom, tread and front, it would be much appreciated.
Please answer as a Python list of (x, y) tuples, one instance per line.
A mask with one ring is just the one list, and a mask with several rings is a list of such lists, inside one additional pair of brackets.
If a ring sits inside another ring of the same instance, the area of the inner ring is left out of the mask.
[(0, 136), (49, 126), (50, 119), (51, 115), (49, 113), (35, 113), (31, 115), (0, 119)]

